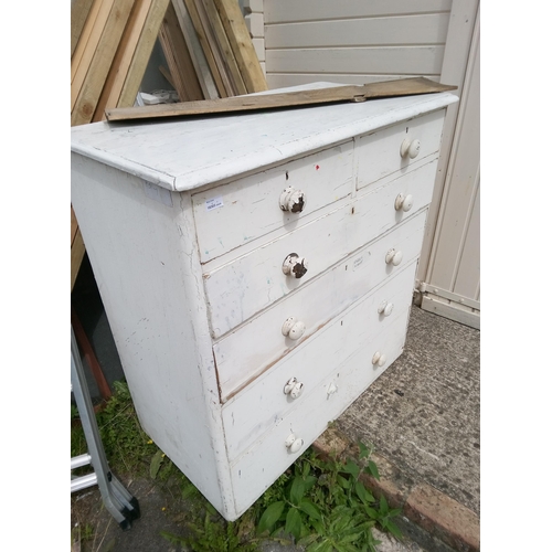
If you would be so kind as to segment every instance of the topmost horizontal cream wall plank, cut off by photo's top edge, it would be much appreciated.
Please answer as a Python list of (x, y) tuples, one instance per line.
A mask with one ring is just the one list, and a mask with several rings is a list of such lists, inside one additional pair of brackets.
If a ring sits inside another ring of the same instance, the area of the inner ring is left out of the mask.
[[(265, 22), (317, 21), (450, 11), (452, 0), (264, 0)], [(414, 9), (415, 8), (415, 9)]]

